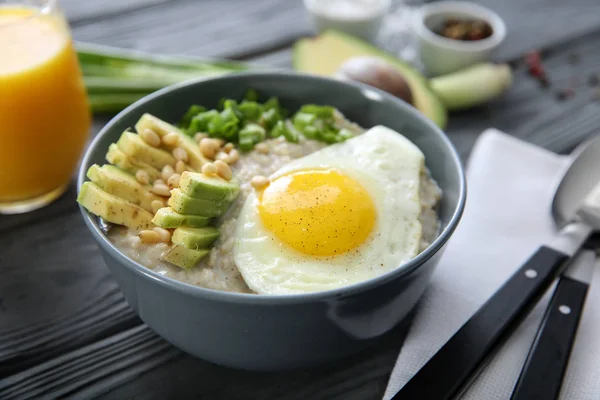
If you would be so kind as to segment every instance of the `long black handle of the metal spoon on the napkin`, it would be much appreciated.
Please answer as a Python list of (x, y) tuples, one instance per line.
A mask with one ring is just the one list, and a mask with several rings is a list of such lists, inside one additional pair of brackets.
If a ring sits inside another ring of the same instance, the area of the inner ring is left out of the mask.
[(540, 247), (393, 400), (455, 397), (503, 336), (527, 315), (568, 259), (557, 250)]

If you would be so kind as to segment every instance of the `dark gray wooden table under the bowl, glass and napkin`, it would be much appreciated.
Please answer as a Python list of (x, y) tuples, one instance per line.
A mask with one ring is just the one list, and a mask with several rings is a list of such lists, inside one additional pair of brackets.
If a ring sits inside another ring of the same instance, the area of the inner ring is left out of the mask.
[[(419, 1), (413, 1), (417, 4)], [(600, 3), (482, 0), (506, 20), (499, 60), (516, 67), (502, 99), (452, 115), (447, 129), (466, 159), (497, 127), (556, 152), (600, 128)], [(289, 67), (291, 44), (311, 33), (300, 1), (63, 0), (76, 40), (162, 53)], [(519, 60), (543, 49), (542, 88)], [(595, 70), (596, 69), (596, 70)], [(556, 89), (573, 87), (561, 101)], [(97, 132), (106, 118), (97, 118)], [(0, 216), (0, 398), (379, 399), (408, 323), (360, 355), (320, 368), (253, 373), (181, 353), (123, 300), (85, 228), (71, 188), (36, 212)]]

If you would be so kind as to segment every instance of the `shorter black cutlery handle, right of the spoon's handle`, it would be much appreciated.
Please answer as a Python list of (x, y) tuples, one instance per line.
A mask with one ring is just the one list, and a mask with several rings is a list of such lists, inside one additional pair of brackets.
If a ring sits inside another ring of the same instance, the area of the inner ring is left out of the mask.
[(511, 400), (557, 399), (589, 285), (560, 278)]

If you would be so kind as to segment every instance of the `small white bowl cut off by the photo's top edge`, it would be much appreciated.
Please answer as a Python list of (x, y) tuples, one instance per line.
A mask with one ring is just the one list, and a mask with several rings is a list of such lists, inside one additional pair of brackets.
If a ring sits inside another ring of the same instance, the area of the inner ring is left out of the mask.
[[(352, 9), (361, 3), (364, 10)], [(391, 0), (304, 0), (317, 31), (335, 29), (370, 42), (377, 37), (390, 5)]]

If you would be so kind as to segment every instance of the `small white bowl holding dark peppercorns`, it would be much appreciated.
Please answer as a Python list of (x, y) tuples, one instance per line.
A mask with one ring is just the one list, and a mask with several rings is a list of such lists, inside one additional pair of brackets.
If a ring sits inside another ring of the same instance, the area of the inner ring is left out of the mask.
[[(490, 24), (492, 35), (476, 41), (449, 39), (433, 29), (448, 18), (479, 19)], [(487, 61), (506, 37), (506, 25), (489, 8), (467, 1), (444, 1), (420, 7), (413, 15), (419, 55), (429, 75), (444, 75)]]

